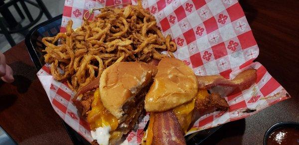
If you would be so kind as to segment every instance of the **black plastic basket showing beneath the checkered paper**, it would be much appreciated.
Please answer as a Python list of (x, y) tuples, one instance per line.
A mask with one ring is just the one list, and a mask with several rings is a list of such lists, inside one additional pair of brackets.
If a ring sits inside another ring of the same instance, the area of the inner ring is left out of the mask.
[[(62, 20), (62, 14), (58, 15), (50, 20), (44, 21), (34, 28), (32, 28), (25, 37), (25, 44), (30, 54), (32, 61), (37, 70), (45, 64), (42, 50), (45, 49), (45, 45), (41, 42), (43, 37), (55, 36), (59, 30)], [(68, 126), (63, 120), (61, 120), (74, 144), (82, 145), (89, 144), (83, 137), (81, 137), (76, 131)], [(221, 126), (200, 131), (185, 137), (187, 145), (198, 145), (207, 139), (210, 135), (215, 133)]]

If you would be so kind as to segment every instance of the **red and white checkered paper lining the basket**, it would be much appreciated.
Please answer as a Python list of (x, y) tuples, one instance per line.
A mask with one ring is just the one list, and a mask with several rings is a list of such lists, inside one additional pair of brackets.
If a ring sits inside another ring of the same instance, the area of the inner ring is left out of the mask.
[[(70, 19), (74, 22), (73, 28), (81, 26), (82, 15), (90, 8), (128, 2), (137, 4), (136, 0), (65, 0), (61, 31), (65, 31)], [(191, 67), (196, 75), (220, 74), (232, 79), (245, 69), (257, 69), (258, 78), (253, 86), (244, 91), (235, 89), (224, 96), (230, 106), (229, 111), (201, 117), (187, 135), (246, 118), (289, 98), (286, 90), (266, 68), (253, 62), (259, 54), (259, 48), (237, 0), (143, 0), (143, 6), (155, 16), (163, 34), (170, 34), (177, 44), (175, 57)], [(57, 114), (91, 142), (89, 125), (79, 118), (71, 102), (74, 92), (66, 83), (53, 80), (48, 64), (37, 75)], [(222, 91), (227, 89), (222, 88)], [(216, 90), (219, 88), (216, 87)], [(256, 111), (247, 113), (248, 109)], [(148, 120), (149, 116), (146, 116), (138, 129), (129, 134), (129, 144), (141, 143), (143, 128)]]

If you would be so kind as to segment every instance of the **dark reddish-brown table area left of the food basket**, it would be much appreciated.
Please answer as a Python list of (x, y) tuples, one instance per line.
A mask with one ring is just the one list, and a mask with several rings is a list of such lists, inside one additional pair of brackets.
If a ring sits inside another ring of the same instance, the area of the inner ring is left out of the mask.
[(18, 144), (72, 144), (36, 76), (24, 41), (4, 55), (15, 81), (0, 81), (0, 126)]

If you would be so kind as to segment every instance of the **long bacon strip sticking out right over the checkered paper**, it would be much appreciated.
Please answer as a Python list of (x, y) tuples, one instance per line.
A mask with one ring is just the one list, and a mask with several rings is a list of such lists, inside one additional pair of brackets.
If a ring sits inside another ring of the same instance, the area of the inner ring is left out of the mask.
[(196, 78), (198, 80), (198, 86), (200, 89), (207, 89), (214, 86), (246, 87), (256, 81), (256, 71), (256, 69), (247, 69), (238, 74), (233, 80), (225, 79), (220, 75), (196, 76)]

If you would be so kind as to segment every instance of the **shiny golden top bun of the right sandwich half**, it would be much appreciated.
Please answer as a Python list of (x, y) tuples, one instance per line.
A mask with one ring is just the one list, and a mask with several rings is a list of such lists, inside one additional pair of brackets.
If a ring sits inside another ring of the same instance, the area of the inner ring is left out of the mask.
[(147, 112), (162, 112), (189, 102), (198, 84), (192, 69), (176, 58), (162, 58), (145, 100)]

